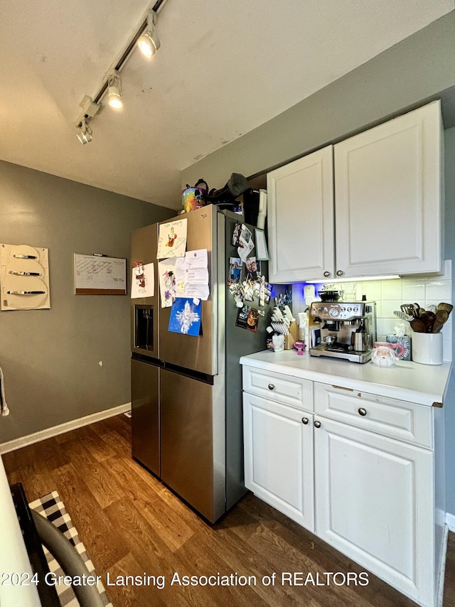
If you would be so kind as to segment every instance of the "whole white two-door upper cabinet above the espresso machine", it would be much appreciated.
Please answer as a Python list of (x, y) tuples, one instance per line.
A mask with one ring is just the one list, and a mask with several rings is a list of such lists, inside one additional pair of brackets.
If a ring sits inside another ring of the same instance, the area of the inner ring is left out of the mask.
[(442, 143), (435, 101), (269, 173), (271, 282), (442, 272)]

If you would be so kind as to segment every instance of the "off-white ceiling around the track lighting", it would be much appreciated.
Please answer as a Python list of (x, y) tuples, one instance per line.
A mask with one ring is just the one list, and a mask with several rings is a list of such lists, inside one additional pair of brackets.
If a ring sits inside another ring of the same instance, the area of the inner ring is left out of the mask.
[[(170, 208), (180, 171), (454, 9), (454, 0), (166, 0), (124, 109), (75, 122), (147, 0), (4, 0), (0, 159)], [(223, 183), (213, 184), (221, 187)]]

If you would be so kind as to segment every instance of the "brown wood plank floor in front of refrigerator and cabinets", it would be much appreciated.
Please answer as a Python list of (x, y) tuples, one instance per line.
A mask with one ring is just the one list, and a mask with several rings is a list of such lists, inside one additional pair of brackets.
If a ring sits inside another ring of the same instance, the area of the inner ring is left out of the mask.
[[(208, 525), (132, 460), (130, 436), (130, 420), (119, 415), (3, 456), (9, 483), (22, 483), (29, 501), (58, 491), (114, 607), (415, 605), (373, 574), (355, 585), (361, 567), (252, 494)], [(455, 606), (454, 537), (444, 607)], [(175, 578), (218, 572), (240, 582), (250, 576), (250, 584), (183, 586)], [(314, 584), (282, 584), (286, 572), (310, 573)], [(325, 572), (339, 573), (325, 584)], [(349, 585), (333, 583), (348, 572)], [(274, 585), (262, 583), (274, 573)], [(107, 586), (107, 574), (111, 584), (154, 577), (149, 585)]]

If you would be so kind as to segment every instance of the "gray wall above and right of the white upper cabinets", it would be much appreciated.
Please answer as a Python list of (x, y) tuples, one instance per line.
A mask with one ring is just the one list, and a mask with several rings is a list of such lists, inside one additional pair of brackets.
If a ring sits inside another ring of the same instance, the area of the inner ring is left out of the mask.
[[(196, 183), (203, 177), (210, 188), (220, 188), (232, 172), (245, 176), (264, 173), (438, 97), (442, 100), (445, 127), (453, 127), (454, 31), (455, 12), (451, 11), (276, 118), (186, 168), (181, 173), (181, 183)], [(454, 130), (446, 131), (445, 226), (446, 259), (452, 259), (455, 266)], [(455, 515), (455, 377), (444, 407), (446, 511)]]

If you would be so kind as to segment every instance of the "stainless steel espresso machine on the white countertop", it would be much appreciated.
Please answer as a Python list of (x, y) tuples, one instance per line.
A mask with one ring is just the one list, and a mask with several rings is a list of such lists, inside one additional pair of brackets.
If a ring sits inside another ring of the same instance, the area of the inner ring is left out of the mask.
[(311, 303), (311, 356), (368, 362), (376, 340), (375, 301)]

